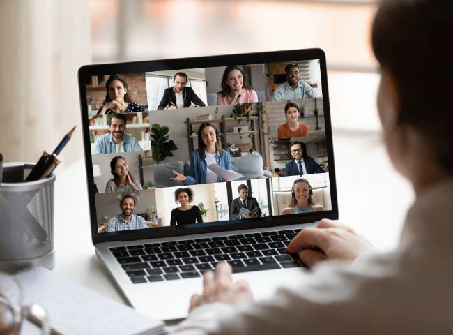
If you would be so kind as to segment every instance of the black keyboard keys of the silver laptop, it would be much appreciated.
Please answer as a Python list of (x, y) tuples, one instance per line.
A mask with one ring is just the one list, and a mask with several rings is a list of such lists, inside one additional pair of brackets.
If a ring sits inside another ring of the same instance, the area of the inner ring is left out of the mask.
[(132, 283), (201, 277), (228, 262), (233, 273), (303, 266), (298, 254), (286, 252), (300, 229), (255, 232), (109, 248)]

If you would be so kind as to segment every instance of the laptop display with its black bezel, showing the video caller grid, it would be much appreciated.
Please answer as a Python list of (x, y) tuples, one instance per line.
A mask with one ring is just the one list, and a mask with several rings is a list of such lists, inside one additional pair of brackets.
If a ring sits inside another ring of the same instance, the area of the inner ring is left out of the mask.
[(337, 213), (323, 53), (255, 55), (81, 68), (94, 236)]

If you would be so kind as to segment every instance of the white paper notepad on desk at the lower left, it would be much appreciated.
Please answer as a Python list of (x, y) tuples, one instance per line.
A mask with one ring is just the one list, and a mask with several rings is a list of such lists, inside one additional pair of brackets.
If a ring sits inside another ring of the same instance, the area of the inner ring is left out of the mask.
[(43, 306), (62, 334), (163, 334), (164, 323), (37, 267), (16, 275), (24, 303)]

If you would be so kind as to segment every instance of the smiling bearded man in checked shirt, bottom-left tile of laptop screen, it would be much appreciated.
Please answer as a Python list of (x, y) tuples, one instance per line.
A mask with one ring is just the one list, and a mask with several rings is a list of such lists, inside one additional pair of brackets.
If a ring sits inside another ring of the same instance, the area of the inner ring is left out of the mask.
[(120, 201), (122, 213), (110, 218), (107, 232), (148, 228), (145, 219), (134, 214), (135, 207), (137, 207), (135, 197), (129, 194), (125, 195)]

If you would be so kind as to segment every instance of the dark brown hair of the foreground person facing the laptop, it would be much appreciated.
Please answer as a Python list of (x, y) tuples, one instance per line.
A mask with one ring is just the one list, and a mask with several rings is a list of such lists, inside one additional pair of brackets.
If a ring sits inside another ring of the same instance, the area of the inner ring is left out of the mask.
[(371, 37), (376, 59), (397, 84), (399, 126), (416, 128), (448, 174), (453, 174), (452, 31), (451, 0), (383, 0)]

